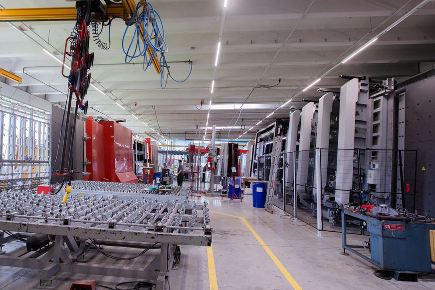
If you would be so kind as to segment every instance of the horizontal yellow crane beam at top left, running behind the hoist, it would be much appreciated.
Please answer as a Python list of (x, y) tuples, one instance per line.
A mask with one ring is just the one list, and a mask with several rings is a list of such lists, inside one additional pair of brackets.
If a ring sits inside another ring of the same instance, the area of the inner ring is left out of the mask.
[[(123, 15), (122, 5), (110, 5), (106, 8), (106, 16)], [(0, 22), (75, 20), (76, 17), (75, 7), (0, 9)]]

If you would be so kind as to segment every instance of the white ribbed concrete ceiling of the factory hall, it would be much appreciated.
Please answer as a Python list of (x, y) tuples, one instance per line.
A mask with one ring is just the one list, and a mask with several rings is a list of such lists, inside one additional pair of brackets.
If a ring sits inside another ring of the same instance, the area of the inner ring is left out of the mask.
[[(166, 89), (161, 89), (160, 75), (153, 67), (144, 72), (140, 59), (134, 64), (125, 64), (121, 42), (126, 25), (121, 19), (115, 19), (111, 28), (111, 48), (101, 50), (94, 43), (90, 45), (90, 51), (95, 52), (94, 66), (90, 72), (99, 83), (95, 85), (112, 99), (122, 102), (128, 110), (123, 110), (113, 100), (90, 87), (86, 99), (92, 108), (88, 114), (101, 116), (104, 113), (113, 119), (125, 118), (127, 122), (123, 124), (133, 133), (154, 133), (131, 115), (134, 113), (154, 130), (160, 131), (154, 106), (163, 134), (171, 139), (200, 139), (204, 136), (208, 104), (212, 97), (211, 84), (224, 0), (149, 2), (163, 20), (169, 47), (167, 61), (192, 60), (191, 76), (183, 83), (170, 79)], [(246, 129), (255, 125), (421, 2), (228, 0), (213, 104), (238, 106), (235, 109), (212, 108), (209, 127), (217, 125), (227, 128), (234, 125), (229, 137), (235, 139), (243, 132), (240, 129), (242, 119)], [(64, 0), (0, 0), (3, 8), (74, 4)], [(306, 14), (301, 19), (304, 12)], [(60, 74), (61, 65), (43, 52), (41, 46), (58, 55), (58, 51), (63, 51), (65, 39), (70, 35), (74, 22), (28, 21), (12, 24), (22, 32), (13, 29), (9, 23), (0, 23), (0, 67), (22, 77), (19, 89), (63, 105), (67, 80)], [(420, 63), (435, 60), (434, 25), (435, 1), (431, 1), (373, 45), (322, 77), (312, 88), (298, 94), (291, 103), (276, 110), (270, 120), (255, 126), (243, 138), (252, 138), (257, 129), (276, 117), (288, 117), (290, 105), (300, 108), (304, 104), (302, 100), (317, 100), (322, 96), (317, 88), (340, 87), (345, 83), (345, 80), (338, 78), (340, 74), (368, 75), (379, 79), (395, 77), (401, 81), (420, 73)], [(107, 27), (104, 29), (101, 38), (107, 40)], [(39, 45), (24, 37), (23, 33)], [(184, 79), (189, 73), (188, 64), (169, 65), (171, 76), (176, 79)], [(242, 109), (235, 123), (237, 108), (253, 87), (256, 84), (275, 85), (278, 78), (281, 78), (278, 86), (256, 88), (246, 101), (247, 104), (264, 104), (264, 107)], [(7, 80), (7, 83), (16, 86), (13, 81)], [(195, 105), (200, 108), (202, 99), (204, 105), (198, 110)], [(228, 130), (221, 129), (221, 139), (228, 137)], [(211, 131), (208, 132), (207, 138), (210, 138)]]

